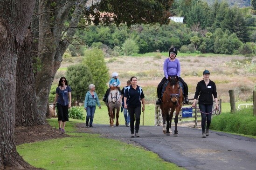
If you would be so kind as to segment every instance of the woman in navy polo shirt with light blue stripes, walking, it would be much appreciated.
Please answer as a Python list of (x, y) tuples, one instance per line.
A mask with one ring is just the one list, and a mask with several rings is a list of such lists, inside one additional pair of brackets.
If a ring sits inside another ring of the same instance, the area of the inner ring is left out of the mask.
[(127, 87), (124, 94), (124, 107), (128, 109), (130, 114), (130, 129), (131, 137), (134, 137), (134, 121), (135, 122), (135, 136), (139, 137), (138, 129), (140, 123), (141, 114), (141, 102), (142, 111), (145, 111), (145, 97), (142, 88), (137, 85), (137, 78), (135, 76), (131, 77), (131, 85)]

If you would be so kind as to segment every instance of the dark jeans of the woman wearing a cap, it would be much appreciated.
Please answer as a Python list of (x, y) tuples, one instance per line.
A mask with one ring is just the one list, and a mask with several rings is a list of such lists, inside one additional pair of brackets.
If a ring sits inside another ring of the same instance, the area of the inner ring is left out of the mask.
[[(212, 112), (213, 111), (213, 105), (202, 105), (199, 104), (199, 109), (201, 112), (201, 127), (202, 127), (202, 131), (205, 132), (205, 128), (209, 129), (210, 124), (211, 124), (211, 120), (212, 120)], [(208, 113), (208, 114), (205, 114)], [(206, 127), (205, 127), (206, 126)]]

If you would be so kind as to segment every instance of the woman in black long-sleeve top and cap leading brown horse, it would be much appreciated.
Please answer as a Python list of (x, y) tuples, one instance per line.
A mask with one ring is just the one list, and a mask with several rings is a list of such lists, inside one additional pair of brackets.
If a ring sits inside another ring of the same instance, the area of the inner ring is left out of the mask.
[(203, 80), (197, 83), (196, 92), (194, 94), (194, 103), (192, 106), (195, 107), (195, 102), (198, 98), (198, 105), (201, 111), (201, 127), (202, 137), (206, 138), (209, 136), (209, 127), (212, 119), (213, 110), (213, 96), (216, 103), (216, 109), (218, 106), (218, 98), (215, 83), (209, 79), (210, 72), (205, 70), (203, 72)]

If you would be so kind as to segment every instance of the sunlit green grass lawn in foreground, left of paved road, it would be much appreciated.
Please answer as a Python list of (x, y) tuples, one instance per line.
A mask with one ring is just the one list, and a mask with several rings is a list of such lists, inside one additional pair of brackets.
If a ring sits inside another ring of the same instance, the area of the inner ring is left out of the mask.
[[(48, 119), (56, 127), (57, 119)], [(66, 132), (70, 137), (16, 146), (29, 164), (46, 170), (183, 170), (151, 151), (97, 134), (76, 133), (70, 119)]]

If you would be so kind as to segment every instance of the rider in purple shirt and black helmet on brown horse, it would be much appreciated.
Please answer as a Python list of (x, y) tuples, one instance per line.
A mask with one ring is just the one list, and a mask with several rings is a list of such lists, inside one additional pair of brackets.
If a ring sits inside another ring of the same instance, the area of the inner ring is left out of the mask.
[(180, 61), (179, 59), (176, 59), (176, 55), (178, 53), (177, 48), (171, 48), (169, 50), (169, 58), (165, 59), (164, 61), (164, 74), (165, 77), (162, 79), (162, 81), (157, 86), (157, 101), (156, 105), (161, 105), (161, 93), (162, 93), (162, 86), (165, 84), (166, 81), (168, 81), (168, 77), (171, 76), (178, 76), (179, 81), (183, 86), (183, 96), (184, 96), (184, 104), (188, 104), (188, 87), (187, 83), (180, 77)]

